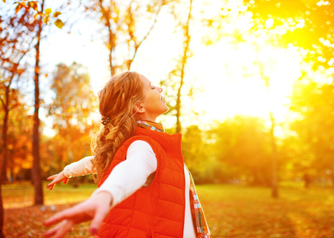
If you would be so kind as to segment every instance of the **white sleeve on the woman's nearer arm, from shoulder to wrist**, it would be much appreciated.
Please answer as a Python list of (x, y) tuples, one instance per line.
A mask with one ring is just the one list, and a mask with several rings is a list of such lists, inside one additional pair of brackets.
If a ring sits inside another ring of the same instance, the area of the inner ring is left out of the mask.
[(101, 191), (108, 192), (113, 197), (111, 207), (114, 207), (141, 188), (147, 177), (156, 171), (156, 167), (157, 161), (152, 147), (144, 140), (136, 140), (127, 151), (127, 159), (113, 168), (92, 196)]

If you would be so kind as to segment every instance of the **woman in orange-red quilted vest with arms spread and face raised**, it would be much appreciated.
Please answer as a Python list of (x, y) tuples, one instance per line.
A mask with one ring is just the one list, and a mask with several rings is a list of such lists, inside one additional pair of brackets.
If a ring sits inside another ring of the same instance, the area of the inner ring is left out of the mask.
[(102, 124), (92, 151), (66, 166), (47, 187), (68, 177), (97, 173), (99, 188), (88, 200), (43, 224), (46, 237), (62, 237), (92, 220), (95, 237), (209, 237), (193, 180), (184, 165), (181, 133), (164, 133), (155, 122), (168, 111), (162, 88), (143, 75), (123, 72), (99, 92)]

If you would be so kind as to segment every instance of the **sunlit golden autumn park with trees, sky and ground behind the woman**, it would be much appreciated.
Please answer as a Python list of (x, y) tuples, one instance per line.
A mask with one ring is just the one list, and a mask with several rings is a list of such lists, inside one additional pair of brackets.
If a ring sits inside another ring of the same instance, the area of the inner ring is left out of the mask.
[[(0, 236), (90, 197), (97, 93), (124, 69), (163, 87), (212, 237), (334, 237), (334, 7), (318, 0), (0, 4)], [(90, 237), (88, 224), (68, 237)]]

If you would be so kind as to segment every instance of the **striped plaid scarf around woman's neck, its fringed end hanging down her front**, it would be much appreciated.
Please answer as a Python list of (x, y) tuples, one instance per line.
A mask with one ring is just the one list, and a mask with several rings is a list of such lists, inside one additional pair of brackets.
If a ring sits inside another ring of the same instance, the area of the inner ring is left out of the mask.
[[(137, 125), (149, 130), (164, 132), (162, 124), (153, 121), (141, 120), (137, 121)], [(187, 166), (184, 165), (184, 167), (187, 169), (190, 177), (190, 189), (189, 189), (190, 208), (191, 208), (192, 221), (196, 229), (196, 238), (210, 238), (210, 230), (208, 229), (203, 209), (197, 197), (194, 179), (192, 178), (191, 173), (188, 170)]]

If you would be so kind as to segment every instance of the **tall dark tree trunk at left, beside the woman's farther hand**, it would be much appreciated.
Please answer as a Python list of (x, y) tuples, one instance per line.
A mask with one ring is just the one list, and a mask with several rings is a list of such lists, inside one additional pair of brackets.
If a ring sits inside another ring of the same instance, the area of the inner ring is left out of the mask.
[[(44, 0), (41, 4), (41, 11), (44, 9)], [(33, 166), (32, 166), (32, 180), (35, 188), (35, 205), (43, 204), (43, 189), (42, 181), (40, 177), (40, 163), (39, 163), (39, 43), (40, 43), (40, 34), (42, 31), (42, 22), (41, 18), (39, 19), (38, 31), (37, 31), (37, 43), (35, 45), (36, 49), (36, 62), (35, 62), (35, 110), (33, 114), (33, 140), (32, 140), (32, 155), (33, 155)]]

